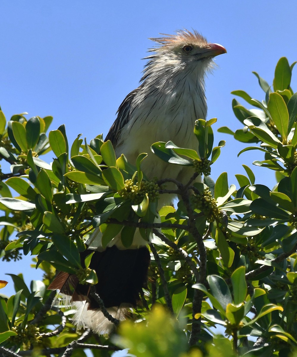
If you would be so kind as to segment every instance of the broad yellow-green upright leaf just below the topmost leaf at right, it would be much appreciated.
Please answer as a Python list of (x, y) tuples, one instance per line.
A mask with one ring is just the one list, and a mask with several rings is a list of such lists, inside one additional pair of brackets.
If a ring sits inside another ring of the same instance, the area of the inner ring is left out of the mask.
[(268, 110), (270, 111), (272, 120), (280, 132), (281, 137), (286, 144), (288, 136), (289, 113), (287, 105), (283, 97), (278, 93), (269, 95)]

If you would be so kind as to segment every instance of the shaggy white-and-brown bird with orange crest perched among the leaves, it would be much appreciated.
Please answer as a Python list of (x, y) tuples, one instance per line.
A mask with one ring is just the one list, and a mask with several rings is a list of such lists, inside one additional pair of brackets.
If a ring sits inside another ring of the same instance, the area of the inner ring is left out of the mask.
[[(150, 147), (155, 142), (173, 141), (178, 147), (197, 149), (193, 127), (197, 119), (205, 119), (207, 114), (205, 76), (214, 67), (213, 58), (227, 51), (219, 44), (208, 43), (194, 30), (161, 35), (150, 39), (157, 46), (148, 50), (140, 85), (121, 103), (105, 141), (111, 141), (117, 157), (124, 154), (132, 164), (146, 152), (142, 171), (148, 180), (174, 178), (185, 184), (192, 170), (163, 162)], [(173, 199), (172, 195), (161, 195), (158, 207), (172, 204)], [(137, 305), (147, 279), (148, 242), (135, 234), (128, 249), (119, 237), (103, 248), (100, 239), (97, 229), (86, 242), (88, 249), (81, 260), (83, 263), (95, 251), (89, 267), (97, 273), (96, 292), (110, 315), (123, 320), (127, 309)], [(74, 292), (70, 292), (70, 286), (75, 288)], [(113, 323), (90, 296), (89, 287), (79, 284), (76, 276), (60, 272), (49, 288), (72, 295), (76, 308), (73, 322), (78, 328), (90, 328), (98, 334), (112, 331)]]

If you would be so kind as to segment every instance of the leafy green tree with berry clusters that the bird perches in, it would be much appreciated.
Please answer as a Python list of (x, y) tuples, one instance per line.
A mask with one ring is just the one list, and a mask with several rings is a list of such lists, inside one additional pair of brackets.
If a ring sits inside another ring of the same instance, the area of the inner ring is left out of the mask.
[[(0, 156), (11, 165), (11, 173), (1, 172), (1, 257), (14, 260), (20, 252), (30, 253), (44, 271), (43, 281), (32, 282), (30, 289), (22, 275), (12, 276), (16, 294), (1, 296), (1, 353), (85, 356), (90, 349), (94, 356), (110, 356), (110, 351), (130, 348), (137, 357), (293, 356), (297, 93), (290, 83), (295, 63), (290, 66), (285, 57), (278, 61), (274, 91), (255, 73), (265, 92), (262, 102), (234, 91), (254, 109), (234, 99), (234, 114), (244, 127), (235, 133), (219, 129), (255, 145), (238, 155), (264, 152), (264, 160), (253, 164), (276, 172), (273, 188), (255, 184), (246, 165), (246, 175), (236, 175), (239, 188), (229, 186), (226, 172), (216, 182), (210, 178), (225, 145), (213, 147), (216, 119), (196, 121), (197, 151), (172, 142), (152, 145), (163, 161), (192, 167), (192, 179), (181, 185), (170, 178), (148, 182), (141, 171), (145, 154), (136, 163), (116, 158), (102, 135), (89, 144), (79, 135), (69, 147), (63, 125), (46, 136), (52, 117), (14, 115), (6, 126), (0, 112)], [(50, 150), (56, 156), (51, 165), (40, 158)], [(102, 171), (103, 161), (107, 168)], [(194, 183), (200, 174), (203, 183)], [(168, 190), (168, 182), (176, 188)], [(154, 223), (158, 196), (168, 192), (180, 201), (176, 208), (161, 208), (161, 223)], [(46, 290), (56, 270), (76, 273), (81, 283), (96, 283), (90, 256), (81, 262), (80, 252), (97, 227), (105, 245), (121, 232), (129, 247), (136, 228), (147, 240), (153, 236), (135, 322), (120, 323), (111, 337), (76, 330), (71, 310), (52, 306), (55, 291)]]

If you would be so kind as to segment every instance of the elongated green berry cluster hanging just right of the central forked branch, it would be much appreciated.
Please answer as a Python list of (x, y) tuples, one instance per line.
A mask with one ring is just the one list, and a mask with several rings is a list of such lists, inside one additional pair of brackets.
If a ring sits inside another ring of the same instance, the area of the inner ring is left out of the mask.
[(203, 212), (209, 222), (222, 217), (222, 211), (217, 208), (217, 201), (212, 197), (208, 187), (192, 196), (191, 200), (195, 208)]

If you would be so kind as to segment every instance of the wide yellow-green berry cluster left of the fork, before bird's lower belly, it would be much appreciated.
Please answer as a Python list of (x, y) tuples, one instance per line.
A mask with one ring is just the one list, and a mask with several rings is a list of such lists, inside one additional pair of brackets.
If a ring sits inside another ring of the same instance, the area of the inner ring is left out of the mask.
[(144, 199), (146, 193), (150, 201), (155, 201), (159, 196), (160, 187), (153, 181), (141, 181), (140, 188), (134, 184), (133, 180), (125, 181), (125, 188), (119, 192), (121, 197), (132, 201), (134, 205), (139, 205)]

